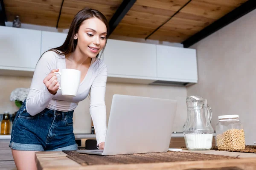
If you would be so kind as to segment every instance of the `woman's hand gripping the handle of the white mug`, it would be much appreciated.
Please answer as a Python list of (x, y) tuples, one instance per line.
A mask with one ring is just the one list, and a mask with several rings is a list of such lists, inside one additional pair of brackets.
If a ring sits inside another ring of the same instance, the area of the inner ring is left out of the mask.
[(59, 69), (53, 69), (47, 77), (44, 78), (44, 84), (46, 85), (48, 91), (50, 94), (56, 94), (58, 91), (58, 88), (60, 87), (60, 83), (57, 80), (57, 76), (55, 72), (58, 72)]

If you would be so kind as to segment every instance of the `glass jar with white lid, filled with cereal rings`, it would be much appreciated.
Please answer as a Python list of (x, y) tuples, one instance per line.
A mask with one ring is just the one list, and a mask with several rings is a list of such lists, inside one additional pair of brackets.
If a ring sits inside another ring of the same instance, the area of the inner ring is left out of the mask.
[(218, 150), (244, 150), (244, 127), (238, 115), (218, 116), (216, 125)]

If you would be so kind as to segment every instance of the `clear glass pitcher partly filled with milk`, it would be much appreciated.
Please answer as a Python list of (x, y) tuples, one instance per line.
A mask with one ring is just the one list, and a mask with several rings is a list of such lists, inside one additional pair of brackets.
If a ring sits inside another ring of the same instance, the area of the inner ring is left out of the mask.
[(186, 99), (187, 119), (183, 127), (186, 147), (189, 150), (209, 150), (212, 147), (213, 128), (210, 124), (212, 109), (207, 99), (188, 96)]

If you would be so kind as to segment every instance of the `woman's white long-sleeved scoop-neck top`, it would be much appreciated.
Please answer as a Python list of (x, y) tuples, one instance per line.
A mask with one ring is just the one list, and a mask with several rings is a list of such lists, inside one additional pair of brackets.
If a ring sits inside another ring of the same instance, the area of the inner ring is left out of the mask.
[[(73, 111), (78, 103), (84, 100), (90, 91), (90, 115), (96, 132), (97, 145), (105, 142), (106, 136), (106, 105), (105, 89), (107, 82), (107, 67), (101, 59), (94, 58), (86, 76), (79, 85), (77, 95), (68, 97), (61, 95), (61, 90), (57, 94), (50, 94), (43, 80), (52, 69), (66, 68), (66, 60), (62, 55), (54, 51), (47, 51), (38, 61), (29, 94), (26, 99), (26, 109), (29, 114), (36, 115), (49, 108), (56, 111)], [(58, 77), (58, 76), (57, 76)]]

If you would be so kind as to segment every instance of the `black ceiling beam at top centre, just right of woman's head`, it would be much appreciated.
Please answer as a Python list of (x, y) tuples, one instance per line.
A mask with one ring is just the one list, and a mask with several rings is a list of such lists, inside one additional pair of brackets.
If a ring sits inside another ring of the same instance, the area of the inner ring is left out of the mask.
[(115, 14), (109, 21), (109, 35), (114, 31), (116, 26), (120, 23), (120, 21), (125, 17), (130, 8), (134, 5), (136, 0), (123, 0), (121, 5), (116, 10)]

